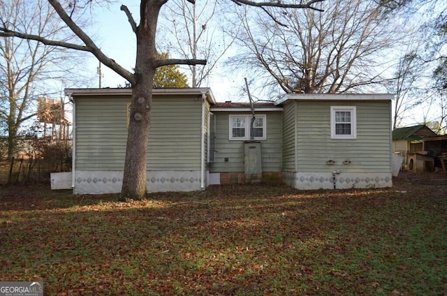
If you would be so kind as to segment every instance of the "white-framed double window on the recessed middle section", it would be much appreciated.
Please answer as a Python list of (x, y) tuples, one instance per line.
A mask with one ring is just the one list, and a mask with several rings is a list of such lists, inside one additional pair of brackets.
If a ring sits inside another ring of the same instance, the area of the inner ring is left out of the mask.
[(250, 140), (253, 133), (254, 140), (266, 138), (266, 116), (256, 115), (251, 129), (251, 115), (230, 115), (230, 140)]

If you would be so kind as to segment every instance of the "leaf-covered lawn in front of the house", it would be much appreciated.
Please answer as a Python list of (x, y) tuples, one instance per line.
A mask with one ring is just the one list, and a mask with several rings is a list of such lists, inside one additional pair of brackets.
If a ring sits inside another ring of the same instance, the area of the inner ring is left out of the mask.
[(45, 295), (447, 295), (439, 176), (404, 175), (383, 190), (217, 186), (138, 202), (0, 187), (0, 281), (43, 281)]

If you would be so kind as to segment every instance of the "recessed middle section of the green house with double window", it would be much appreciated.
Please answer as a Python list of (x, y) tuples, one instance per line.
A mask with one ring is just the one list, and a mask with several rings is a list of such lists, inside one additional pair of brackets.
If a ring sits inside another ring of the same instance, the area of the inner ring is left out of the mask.
[(274, 103), (254, 107), (253, 129), (248, 103), (211, 107), (211, 184), (281, 182), (283, 108)]

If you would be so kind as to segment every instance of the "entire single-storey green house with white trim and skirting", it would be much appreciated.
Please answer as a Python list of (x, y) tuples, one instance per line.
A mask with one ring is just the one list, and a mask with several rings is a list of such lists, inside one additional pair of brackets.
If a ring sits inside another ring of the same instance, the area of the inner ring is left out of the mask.
[[(73, 101), (73, 193), (122, 186), (131, 89), (66, 89)], [(390, 94), (289, 94), (217, 103), (208, 88), (154, 89), (147, 189), (285, 182), (295, 188), (392, 185)]]

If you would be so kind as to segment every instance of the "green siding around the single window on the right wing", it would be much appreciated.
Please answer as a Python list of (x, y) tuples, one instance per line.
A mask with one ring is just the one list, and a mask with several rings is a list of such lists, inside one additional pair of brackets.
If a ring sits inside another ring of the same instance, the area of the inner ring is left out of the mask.
[[(297, 171), (390, 172), (390, 101), (298, 101)], [(357, 138), (330, 138), (330, 106), (356, 106)], [(335, 165), (326, 161), (332, 159)], [(343, 161), (351, 163), (343, 165)]]

